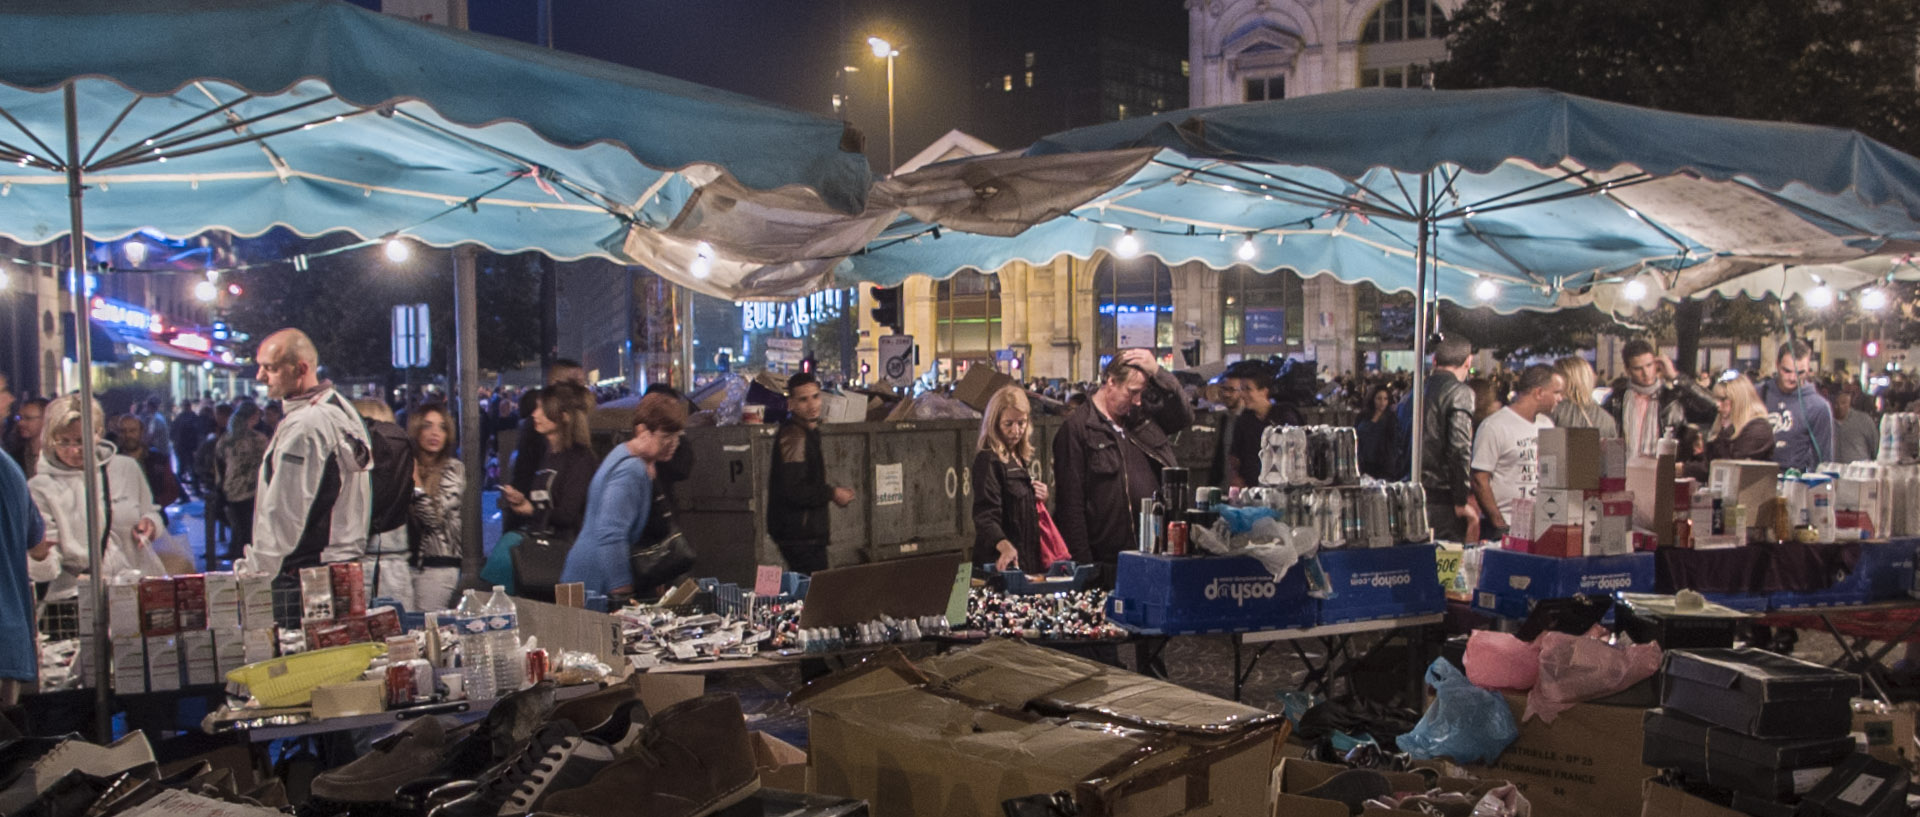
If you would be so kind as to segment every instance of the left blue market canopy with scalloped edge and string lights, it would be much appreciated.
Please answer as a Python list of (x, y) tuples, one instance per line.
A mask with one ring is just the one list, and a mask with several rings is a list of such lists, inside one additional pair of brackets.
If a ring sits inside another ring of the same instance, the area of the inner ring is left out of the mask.
[(0, 10), (0, 232), (27, 244), (69, 232), (67, 84), (96, 240), (405, 234), (726, 293), (691, 244), (630, 234), (710, 182), (839, 213), (870, 184), (839, 121), (336, 0), (25, 0)]

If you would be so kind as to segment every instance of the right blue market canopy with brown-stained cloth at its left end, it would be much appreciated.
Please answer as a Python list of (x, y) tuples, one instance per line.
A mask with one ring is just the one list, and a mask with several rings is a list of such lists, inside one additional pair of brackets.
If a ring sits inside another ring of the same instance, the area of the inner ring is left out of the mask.
[(1087, 259), (1131, 230), (1169, 265), (1413, 292), (1425, 226), (1438, 297), (1626, 309), (1638, 276), (1686, 297), (1920, 242), (1920, 161), (1851, 130), (1549, 90), (1369, 88), (1068, 130), (879, 182), (868, 213), (891, 219), (843, 280)]

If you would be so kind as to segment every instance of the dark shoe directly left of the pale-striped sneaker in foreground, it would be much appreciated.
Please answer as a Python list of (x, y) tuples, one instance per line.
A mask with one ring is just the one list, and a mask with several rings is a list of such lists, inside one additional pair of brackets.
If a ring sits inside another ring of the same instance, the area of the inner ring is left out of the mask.
[(440, 767), (397, 786), (392, 794), (394, 807), (424, 817), (436, 805), (468, 794), (470, 786), (447, 786), (455, 781), (486, 777), (488, 769), (511, 759), (520, 746), (534, 738), (534, 731), (547, 723), (553, 710), (553, 681), (541, 681), (501, 698), (480, 723), (447, 733), (451, 748)]

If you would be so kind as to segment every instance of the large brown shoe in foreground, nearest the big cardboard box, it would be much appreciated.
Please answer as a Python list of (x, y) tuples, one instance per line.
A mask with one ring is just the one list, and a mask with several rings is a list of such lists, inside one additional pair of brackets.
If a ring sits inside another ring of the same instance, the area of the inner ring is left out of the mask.
[(760, 790), (739, 698), (708, 694), (674, 704), (622, 758), (580, 788), (547, 798), (570, 817), (707, 817)]

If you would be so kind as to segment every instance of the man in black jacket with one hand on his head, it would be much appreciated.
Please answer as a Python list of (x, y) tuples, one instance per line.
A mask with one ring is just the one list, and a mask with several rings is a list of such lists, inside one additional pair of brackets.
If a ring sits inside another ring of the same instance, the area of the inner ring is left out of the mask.
[(1177, 464), (1169, 437), (1192, 420), (1179, 380), (1150, 351), (1127, 349), (1054, 435), (1054, 522), (1075, 562), (1102, 566), (1106, 587), (1119, 552), (1139, 541), (1140, 501), (1160, 491), (1160, 470)]

